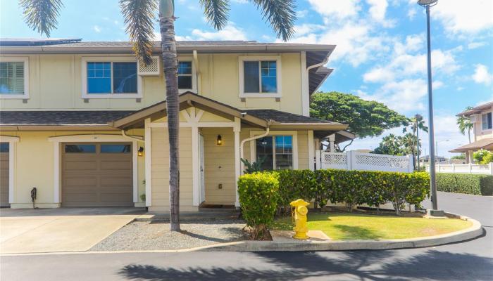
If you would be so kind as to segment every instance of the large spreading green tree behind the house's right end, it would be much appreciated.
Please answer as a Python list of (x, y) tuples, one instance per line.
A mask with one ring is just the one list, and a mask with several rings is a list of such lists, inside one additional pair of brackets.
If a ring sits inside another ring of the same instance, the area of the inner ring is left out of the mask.
[(408, 124), (404, 115), (383, 103), (339, 92), (314, 93), (310, 100), (310, 116), (348, 124), (348, 131), (358, 138), (380, 136), (387, 129)]

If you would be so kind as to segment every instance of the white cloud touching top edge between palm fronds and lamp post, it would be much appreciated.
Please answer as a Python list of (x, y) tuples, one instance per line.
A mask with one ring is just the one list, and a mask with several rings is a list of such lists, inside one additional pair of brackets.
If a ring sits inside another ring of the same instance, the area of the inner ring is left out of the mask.
[(359, 0), (308, 0), (317, 13), (342, 20), (354, 17), (361, 10)]

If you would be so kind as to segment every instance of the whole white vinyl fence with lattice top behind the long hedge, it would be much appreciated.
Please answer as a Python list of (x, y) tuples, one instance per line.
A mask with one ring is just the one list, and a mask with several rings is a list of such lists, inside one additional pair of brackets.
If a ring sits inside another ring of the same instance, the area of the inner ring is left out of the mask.
[(349, 152), (316, 152), (317, 169), (344, 169), (367, 171), (401, 171), (412, 173), (413, 157), (380, 155), (373, 153)]

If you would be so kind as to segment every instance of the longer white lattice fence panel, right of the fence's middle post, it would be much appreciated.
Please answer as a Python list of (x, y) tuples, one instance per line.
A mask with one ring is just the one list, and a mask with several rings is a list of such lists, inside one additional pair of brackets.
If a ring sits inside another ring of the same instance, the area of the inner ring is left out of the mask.
[(370, 153), (354, 153), (354, 170), (372, 171), (410, 171), (409, 158), (407, 156), (377, 155)]

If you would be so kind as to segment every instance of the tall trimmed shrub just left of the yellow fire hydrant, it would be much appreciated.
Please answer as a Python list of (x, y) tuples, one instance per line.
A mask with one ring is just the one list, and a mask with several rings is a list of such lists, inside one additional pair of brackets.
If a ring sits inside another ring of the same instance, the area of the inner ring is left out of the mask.
[(274, 221), (279, 200), (279, 181), (276, 173), (255, 173), (238, 179), (239, 203), (246, 225), (251, 228), (254, 240), (268, 234), (268, 226)]

